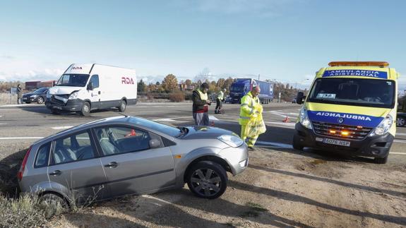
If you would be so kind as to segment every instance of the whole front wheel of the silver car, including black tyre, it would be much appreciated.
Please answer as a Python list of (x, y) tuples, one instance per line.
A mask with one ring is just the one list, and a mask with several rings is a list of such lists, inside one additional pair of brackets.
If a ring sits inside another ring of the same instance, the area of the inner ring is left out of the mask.
[(215, 162), (203, 161), (193, 164), (187, 175), (190, 191), (198, 197), (214, 199), (227, 188), (227, 173)]

